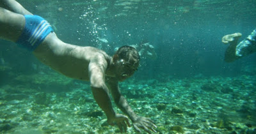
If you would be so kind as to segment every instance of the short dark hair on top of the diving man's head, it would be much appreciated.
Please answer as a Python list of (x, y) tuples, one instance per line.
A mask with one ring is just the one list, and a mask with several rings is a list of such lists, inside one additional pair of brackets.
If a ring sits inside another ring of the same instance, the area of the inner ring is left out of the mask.
[(136, 48), (124, 45), (116, 51), (116, 53), (120, 59), (125, 59), (125, 61), (129, 61), (129, 59), (134, 58), (140, 61), (140, 55)]

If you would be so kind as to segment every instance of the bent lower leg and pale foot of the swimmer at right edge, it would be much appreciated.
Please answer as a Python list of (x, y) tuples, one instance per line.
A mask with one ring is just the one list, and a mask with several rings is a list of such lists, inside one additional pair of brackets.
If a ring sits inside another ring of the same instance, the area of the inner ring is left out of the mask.
[(241, 36), (242, 36), (241, 33), (234, 33), (234, 34), (228, 34), (223, 36), (222, 42), (225, 44), (230, 43), (230, 45), (228, 46), (225, 52), (225, 61), (227, 63), (235, 61), (236, 59), (239, 58), (238, 56), (236, 56), (236, 46)]

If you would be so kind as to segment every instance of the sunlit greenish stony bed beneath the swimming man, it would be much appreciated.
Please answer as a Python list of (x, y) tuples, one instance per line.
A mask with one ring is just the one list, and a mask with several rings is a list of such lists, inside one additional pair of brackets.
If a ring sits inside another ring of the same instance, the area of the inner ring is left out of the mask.
[[(0, 87), (0, 133), (120, 132), (106, 123), (88, 83), (55, 72), (12, 76)], [(131, 107), (154, 120), (157, 133), (256, 133), (255, 86), (255, 75), (120, 83)]]

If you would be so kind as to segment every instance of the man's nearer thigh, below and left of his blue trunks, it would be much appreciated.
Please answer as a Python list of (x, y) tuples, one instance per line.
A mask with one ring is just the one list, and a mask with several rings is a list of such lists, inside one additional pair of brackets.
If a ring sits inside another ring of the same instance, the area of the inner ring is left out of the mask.
[(25, 26), (25, 17), (0, 7), (0, 38), (17, 41)]

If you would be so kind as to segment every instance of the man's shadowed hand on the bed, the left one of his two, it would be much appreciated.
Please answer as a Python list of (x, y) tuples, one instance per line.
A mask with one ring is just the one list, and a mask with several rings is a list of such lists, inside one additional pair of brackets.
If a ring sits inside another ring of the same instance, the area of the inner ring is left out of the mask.
[(127, 132), (127, 126), (131, 127), (128, 117), (122, 114), (116, 114), (113, 119), (108, 119), (108, 123), (112, 126), (116, 123), (121, 133)]

